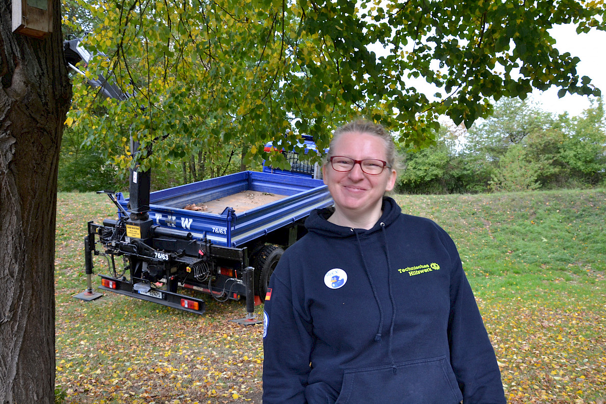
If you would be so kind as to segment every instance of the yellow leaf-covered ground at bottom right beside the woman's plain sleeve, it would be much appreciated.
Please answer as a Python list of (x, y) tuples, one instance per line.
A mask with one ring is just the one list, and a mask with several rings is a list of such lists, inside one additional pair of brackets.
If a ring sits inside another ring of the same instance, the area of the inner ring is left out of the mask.
[(482, 308), (508, 403), (603, 402), (606, 314), (544, 303), (518, 297)]

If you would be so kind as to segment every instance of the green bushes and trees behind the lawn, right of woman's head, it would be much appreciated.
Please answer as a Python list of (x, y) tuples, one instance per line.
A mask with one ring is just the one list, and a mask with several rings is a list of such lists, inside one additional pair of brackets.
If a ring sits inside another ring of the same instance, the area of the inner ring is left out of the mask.
[(442, 124), (435, 145), (401, 150), (396, 190), (411, 194), (480, 193), (606, 184), (604, 99), (580, 116), (542, 111), (502, 98), (494, 113), (465, 130)]

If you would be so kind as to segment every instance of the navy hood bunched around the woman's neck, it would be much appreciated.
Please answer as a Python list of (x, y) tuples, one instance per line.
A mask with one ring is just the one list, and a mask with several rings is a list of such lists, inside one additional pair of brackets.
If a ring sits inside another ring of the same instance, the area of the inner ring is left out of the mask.
[[(381, 223), (385, 225), (385, 228), (388, 228), (402, 213), (402, 210), (398, 204), (396, 204), (396, 201), (386, 196), (383, 197), (381, 210), (383, 212), (381, 217), (379, 220), (377, 220), (376, 224), (370, 228), (370, 230), (355, 229), (355, 233), (357, 233), (359, 236), (377, 233), (378, 231), (381, 231)], [(322, 237), (336, 239), (356, 237), (356, 234), (352, 231), (353, 229), (328, 222), (328, 217), (330, 217), (334, 212), (334, 207), (323, 208), (311, 212), (310, 216), (307, 217), (307, 220), (305, 220), (305, 227), (308, 231), (316, 233)]]

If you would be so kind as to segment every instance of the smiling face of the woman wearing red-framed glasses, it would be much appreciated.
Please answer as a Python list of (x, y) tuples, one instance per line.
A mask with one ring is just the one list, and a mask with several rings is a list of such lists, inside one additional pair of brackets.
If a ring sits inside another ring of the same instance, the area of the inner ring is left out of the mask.
[[(354, 160), (378, 159), (387, 161), (385, 142), (368, 133), (344, 133), (336, 139), (331, 156), (345, 156)], [(396, 170), (385, 167), (381, 174), (371, 175), (355, 164), (351, 171), (335, 171), (330, 161), (322, 167), (324, 184), (335, 200), (335, 209), (345, 214), (367, 214), (381, 210), (385, 191), (391, 191), (396, 182)]]

